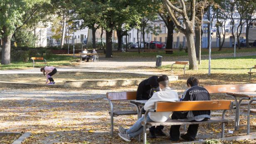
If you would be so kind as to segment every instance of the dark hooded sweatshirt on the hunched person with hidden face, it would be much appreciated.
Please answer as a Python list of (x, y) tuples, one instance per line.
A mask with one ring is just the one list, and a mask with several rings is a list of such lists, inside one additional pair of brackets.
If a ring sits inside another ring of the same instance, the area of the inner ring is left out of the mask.
[(159, 91), (157, 76), (151, 76), (140, 82), (137, 90), (136, 100), (148, 100), (152, 97), (154, 91)]

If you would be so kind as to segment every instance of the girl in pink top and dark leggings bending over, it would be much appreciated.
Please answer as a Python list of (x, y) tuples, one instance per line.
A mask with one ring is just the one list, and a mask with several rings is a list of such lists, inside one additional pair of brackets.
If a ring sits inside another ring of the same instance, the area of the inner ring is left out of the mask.
[(57, 69), (55, 67), (53, 67), (53, 66), (45, 66), (45, 67), (42, 67), (40, 69), (40, 71), (42, 73), (44, 73), (44, 76), (46, 74), (46, 84), (48, 83), (48, 81), (50, 81), (50, 83), (48, 83), (47, 85), (54, 85), (55, 84), (55, 82), (54, 82), (54, 80), (52, 78), (52, 76), (55, 73), (57, 73)]

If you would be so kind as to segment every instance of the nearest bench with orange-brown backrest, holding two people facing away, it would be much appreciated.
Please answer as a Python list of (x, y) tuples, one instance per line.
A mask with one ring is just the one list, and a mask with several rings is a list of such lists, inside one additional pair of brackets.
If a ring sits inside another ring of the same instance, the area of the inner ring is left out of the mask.
[[(204, 124), (204, 123), (222, 123), (221, 137), (224, 137), (224, 123), (230, 122), (225, 119), (226, 110), (233, 109), (231, 100), (209, 100), (209, 101), (181, 101), (181, 102), (156, 102), (155, 108), (147, 110), (144, 115), (143, 125), (143, 144), (147, 142), (147, 127), (152, 126), (171, 126), (182, 124)], [(166, 122), (147, 122), (148, 112), (174, 112), (174, 111), (193, 111), (193, 110), (223, 110), (221, 117), (212, 117), (209, 120), (201, 122), (184, 122), (181, 120), (167, 120)]]

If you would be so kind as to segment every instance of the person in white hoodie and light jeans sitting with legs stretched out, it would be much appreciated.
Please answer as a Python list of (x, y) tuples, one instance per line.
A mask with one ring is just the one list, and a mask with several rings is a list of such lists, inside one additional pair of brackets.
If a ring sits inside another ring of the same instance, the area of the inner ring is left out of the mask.
[[(145, 103), (144, 110), (150, 110), (154, 108), (155, 102), (176, 102), (179, 101), (178, 94), (176, 91), (169, 87), (169, 78), (166, 75), (160, 76), (157, 79), (160, 87), (159, 92), (155, 92), (153, 96)], [(147, 115), (147, 122), (165, 122), (172, 112), (149, 112)], [(144, 116), (141, 117), (132, 127), (124, 129), (119, 127), (118, 135), (125, 141), (130, 142), (132, 137), (136, 137), (143, 132)]]

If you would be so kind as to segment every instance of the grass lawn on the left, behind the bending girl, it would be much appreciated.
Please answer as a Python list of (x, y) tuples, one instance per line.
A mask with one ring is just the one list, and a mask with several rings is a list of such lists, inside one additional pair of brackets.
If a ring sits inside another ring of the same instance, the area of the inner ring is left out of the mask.
[[(46, 58), (47, 66), (73, 66), (73, 60), (78, 58), (73, 58), (71, 56), (62, 56), (62, 55), (51, 55), (51, 58)], [(36, 61), (37, 62), (37, 61)], [(38, 61), (43, 62), (43, 61)], [(35, 67), (42, 67), (43, 63), (35, 63)], [(12, 70), (12, 69), (28, 69), (33, 68), (32, 60), (29, 60), (27, 63), (22, 61), (12, 61), (9, 65), (0, 65), (0, 70)]]

